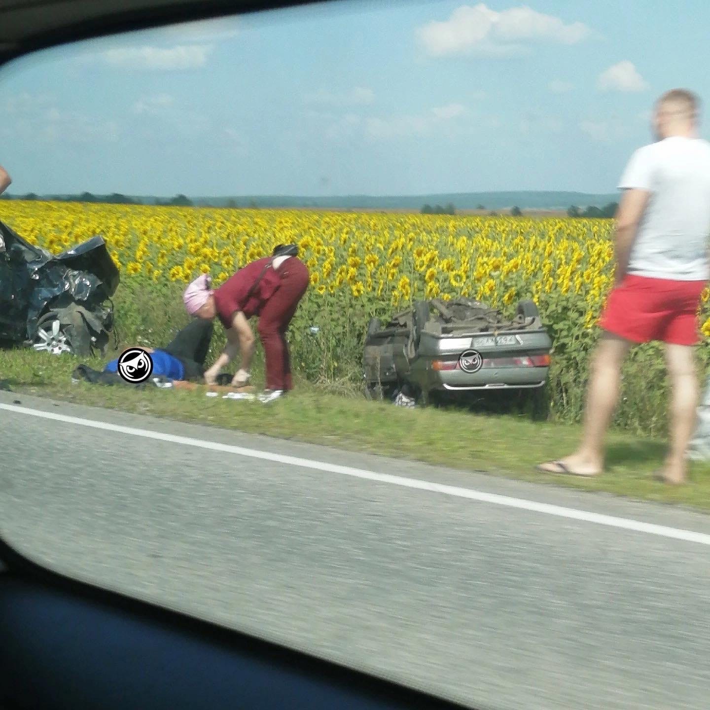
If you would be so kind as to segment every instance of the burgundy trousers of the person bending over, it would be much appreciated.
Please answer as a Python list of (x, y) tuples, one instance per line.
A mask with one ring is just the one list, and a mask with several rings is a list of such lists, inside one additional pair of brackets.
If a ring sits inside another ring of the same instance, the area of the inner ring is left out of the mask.
[(258, 332), (266, 355), (266, 388), (291, 390), (291, 360), (286, 331), (308, 288), (308, 269), (302, 261), (290, 258), (281, 267), (281, 283), (259, 313)]

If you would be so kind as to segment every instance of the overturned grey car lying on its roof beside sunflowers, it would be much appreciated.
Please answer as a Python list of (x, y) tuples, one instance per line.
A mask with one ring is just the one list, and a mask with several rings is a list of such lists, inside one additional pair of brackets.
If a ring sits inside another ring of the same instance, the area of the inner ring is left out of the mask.
[(464, 297), (417, 301), (384, 327), (371, 320), (364, 378), (375, 398), (408, 391), (422, 402), (435, 392), (535, 390), (547, 381), (551, 348), (532, 300), (512, 320)]

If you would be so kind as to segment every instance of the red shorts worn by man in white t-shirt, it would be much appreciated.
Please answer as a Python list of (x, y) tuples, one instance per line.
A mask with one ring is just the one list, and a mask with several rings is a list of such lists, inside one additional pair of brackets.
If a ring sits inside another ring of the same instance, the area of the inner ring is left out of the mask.
[(707, 281), (675, 281), (627, 274), (609, 294), (599, 325), (635, 343), (661, 340), (697, 345), (698, 307)]

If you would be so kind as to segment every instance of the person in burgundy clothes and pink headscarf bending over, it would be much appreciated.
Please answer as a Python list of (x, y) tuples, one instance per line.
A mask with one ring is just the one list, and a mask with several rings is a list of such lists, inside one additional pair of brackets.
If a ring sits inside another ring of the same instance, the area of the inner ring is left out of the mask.
[(293, 389), (285, 335), (309, 283), (308, 269), (297, 251), (293, 245), (279, 245), (271, 257), (247, 264), (217, 289), (209, 288), (204, 274), (187, 287), (183, 296), (187, 312), (208, 320), (217, 317), (226, 329), (224, 352), (204, 373), (207, 383), (216, 381), (237, 351), (241, 351), (241, 367), (232, 384), (244, 386), (249, 381), (255, 344), (249, 319), (257, 315), (266, 353), (266, 392), (261, 400), (271, 401)]

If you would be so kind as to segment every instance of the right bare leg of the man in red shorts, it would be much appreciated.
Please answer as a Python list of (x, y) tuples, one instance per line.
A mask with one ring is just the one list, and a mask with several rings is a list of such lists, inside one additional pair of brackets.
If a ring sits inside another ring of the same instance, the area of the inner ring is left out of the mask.
[(697, 423), (700, 384), (694, 349), (687, 345), (666, 344), (666, 364), (671, 381), (670, 450), (662, 471), (669, 483), (685, 481), (685, 454)]

